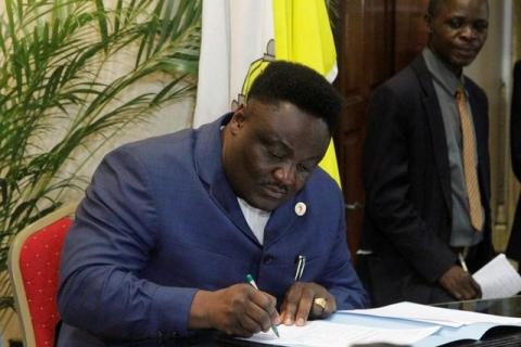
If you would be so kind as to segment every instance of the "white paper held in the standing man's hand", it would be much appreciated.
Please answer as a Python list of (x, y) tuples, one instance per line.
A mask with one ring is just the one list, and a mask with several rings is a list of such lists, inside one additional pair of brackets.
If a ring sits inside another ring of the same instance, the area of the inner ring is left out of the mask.
[(472, 278), (481, 286), (484, 299), (509, 297), (521, 291), (521, 277), (504, 254), (488, 261)]

